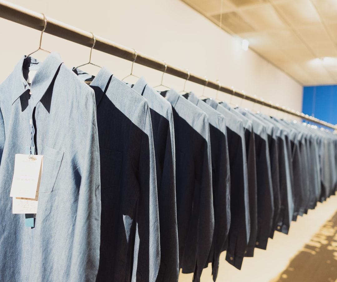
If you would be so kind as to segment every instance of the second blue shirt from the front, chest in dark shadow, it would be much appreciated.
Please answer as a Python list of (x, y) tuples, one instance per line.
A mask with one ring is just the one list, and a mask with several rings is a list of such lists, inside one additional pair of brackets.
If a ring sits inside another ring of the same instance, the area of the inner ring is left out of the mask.
[[(82, 80), (88, 76), (76, 72)], [(150, 109), (105, 67), (90, 86), (96, 95), (102, 184), (96, 281), (152, 282), (159, 270), (160, 239)]]

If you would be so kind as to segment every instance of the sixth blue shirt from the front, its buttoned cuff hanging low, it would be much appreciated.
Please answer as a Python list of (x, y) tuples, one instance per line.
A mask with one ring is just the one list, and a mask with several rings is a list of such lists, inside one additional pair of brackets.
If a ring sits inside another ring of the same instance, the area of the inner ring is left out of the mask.
[(241, 269), (250, 235), (248, 173), (242, 121), (215, 100), (204, 100), (225, 117), (229, 169), (231, 171), (231, 226), (227, 237), (226, 260)]

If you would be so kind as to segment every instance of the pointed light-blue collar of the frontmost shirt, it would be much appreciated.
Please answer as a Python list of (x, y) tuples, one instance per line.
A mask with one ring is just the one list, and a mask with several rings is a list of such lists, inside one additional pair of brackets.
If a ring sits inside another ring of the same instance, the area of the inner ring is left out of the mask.
[[(51, 85), (55, 74), (62, 63), (63, 62), (59, 53), (56, 52), (48, 55), (48, 57), (42, 63), (32, 57), (22, 57), (13, 71), (14, 77), (18, 82), (20, 81), (20, 83), (18, 83), (18, 90), (13, 91), (11, 101), (12, 104), (25, 91), (30, 89), (32, 92), (34, 106), (36, 106), (44, 93), (47, 91), (48, 87)], [(24, 71), (26, 72), (27, 70), (36, 70), (35, 77), (30, 86), (24, 77)]]

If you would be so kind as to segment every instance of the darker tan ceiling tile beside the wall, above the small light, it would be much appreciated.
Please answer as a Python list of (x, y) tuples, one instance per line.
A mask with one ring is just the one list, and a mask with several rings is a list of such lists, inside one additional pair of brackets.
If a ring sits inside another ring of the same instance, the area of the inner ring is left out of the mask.
[[(220, 21), (220, 14), (213, 15), (216, 21)], [(222, 25), (234, 33), (252, 32), (254, 29), (236, 12), (222, 14)]]

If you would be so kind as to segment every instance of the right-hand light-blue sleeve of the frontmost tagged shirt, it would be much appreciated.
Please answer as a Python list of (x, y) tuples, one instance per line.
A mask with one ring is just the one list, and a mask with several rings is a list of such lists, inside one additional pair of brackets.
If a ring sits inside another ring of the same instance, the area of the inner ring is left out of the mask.
[(86, 282), (96, 280), (99, 264), (100, 163), (94, 94), (79, 103), (79, 140), (83, 140), (79, 152), (81, 185), (74, 219), (70, 281)]

